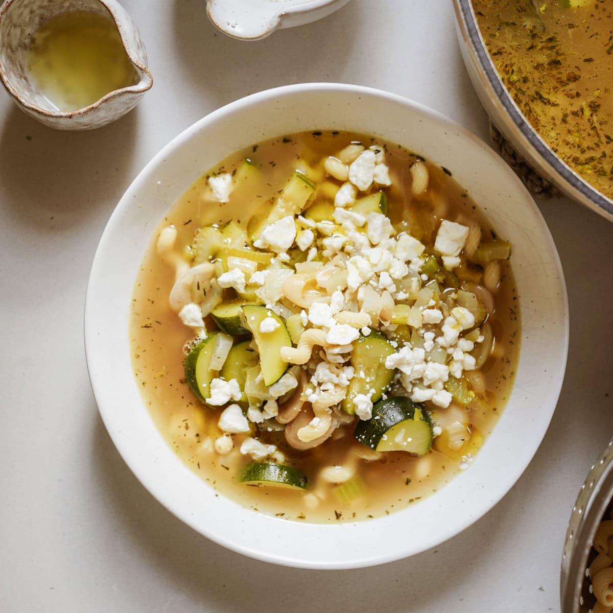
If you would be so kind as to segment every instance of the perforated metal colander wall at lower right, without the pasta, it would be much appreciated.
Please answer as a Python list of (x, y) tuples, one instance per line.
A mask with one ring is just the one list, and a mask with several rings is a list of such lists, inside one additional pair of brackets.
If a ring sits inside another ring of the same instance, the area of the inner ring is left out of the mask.
[[(596, 604), (587, 566), (595, 557), (592, 541), (613, 495), (613, 439), (592, 464), (571, 513), (560, 573), (562, 613), (588, 613)], [(607, 516), (608, 519), (608, 516)]]

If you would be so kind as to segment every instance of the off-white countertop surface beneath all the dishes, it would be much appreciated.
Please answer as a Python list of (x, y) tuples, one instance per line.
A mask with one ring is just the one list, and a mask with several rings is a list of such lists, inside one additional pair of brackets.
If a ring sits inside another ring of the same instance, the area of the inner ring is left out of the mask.
[(613, 426), (613, 224), (568, 199), (539, 202), (568, 283), (568, 370), (535, 459), (487, 516), (434, 550), (356, 571), (283, 568), (223, 549), (151, 498), (97, 413), (83, 300), (116, 202), (189, 124), (286, 83), (387, 89), (485, 140), (487, 118), (448, 0), (352, 0), (255, 43), (217, 32), (204, 0), (123, 4), (155, 80), (128, 116), (56, 132), (0, 91), (0, 611), (558, 611), (569, 514)]

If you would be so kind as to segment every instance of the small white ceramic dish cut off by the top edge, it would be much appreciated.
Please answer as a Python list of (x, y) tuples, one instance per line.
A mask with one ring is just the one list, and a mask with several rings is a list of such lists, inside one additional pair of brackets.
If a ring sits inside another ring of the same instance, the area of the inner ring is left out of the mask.
[(241, 40), (270, 36), (278, 28), (311, 23), (349, 0), (207, 0), (207, 15), (225, 34)]

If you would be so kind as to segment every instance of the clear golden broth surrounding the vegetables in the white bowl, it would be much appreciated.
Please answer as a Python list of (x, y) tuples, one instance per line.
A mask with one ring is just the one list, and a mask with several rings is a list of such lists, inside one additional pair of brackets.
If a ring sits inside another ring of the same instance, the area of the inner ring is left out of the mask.
[[(370, 144), (373, 139), (338, 132), (303, 133), (261, 143), (224, 160), (219, 167), (197, 179), (162, 219), (147, 248), (134, 289), (129, 330), (134, 370), (160, 432), (186, 465), (219, 493), (245, 506), (287, 519), (362, 520), (403, 508), (435, 492), (460, 470), (461, 465), (465, 467), (470, 463), (483, 437), (491, 432), (511, 390), (519, 354), (516, 287), (511, 267), (503, 261), (503, 283), (495, 294), (497, 308), (489, 320), (495, 333), (495, 347), (481, 369), (482, 387), (475, 390), (476, 398), (467, 409), (473, 435), (459, 451), (446, 449), (446, 454), (441, 453), (436, 451), (435, 444), (432, 451), (422, 457), (384, 452), (378, 459), (368, 461), (356, 455), (357, 452), (373, 453), (354, 440), (354, 424), (339, 427), (331, 439), (308, 451), (289, 447), (283, 432), (261, 432), (260, 440), (276, 444), (286, 456), (286, 463), (298, 466), (307, 474), (306, 494), (240, 484), (238, 472), (249, 462), (238, 452), (245, 435), (233, 435), (235, 446), (229, 455), (216, 454), (212, 441), (222, 434), (217, 425), (220, 409), (199, 402), (185, 383), (181, 348), (193, 334), (183, 326), (177, 313), (170, 310), (168, 297), (175, 271), (156, 253), (158, 234), (164, 227), (175, 226), (178, 229), (177, 248), (181, 251), (191, 244), (194, 231), (202, 224), (223, 224), (234, 219), (245, 227), (262, 202), (284, 185), (298, 159), (306, 160), (311, 166), (309, 172), (321, 177), (317, 181), (315, 202), (329, 200), (321, 160), (355, 140)], [(380, 140), (376, 142), (381, 144)], [(465, 223), (477, 222), (486, 237), (490, 237), (490, 233), (493, 235), (473, 200), (448, 176), (449, 171), (427, 164), (430, 186), (425, 194), (414, 198), (408, 169), (417, 156), (390, 143), (386, 148), (386, 163), (392, 176), (392, 187), (386, 188), (388, 215), (398, 228), (412, 224), (417, 232), (419, 223), (420, 240), (427, 248), (432, 248), (435, 223), (442, 216)], [(245, 156), (264, 173), (261, 191), (248, 194), (237, 186), (229, 203), (207, 202), (204, 197), (207, 178), (220, 170), (232, 173)], [(210, 330), (209, 324), (207, 319), (207, 330)], [(446, 413), (446, 409), (430, 408), (435, 417), (444, 417)], [(355, 466), (358, 475), (357, 481), (352, 481), (354, 492), (339, 490), (319, 476), (324, 466), (348, 463)], [(311, 495), (313, 492), (320, 498), (318, 503)]]

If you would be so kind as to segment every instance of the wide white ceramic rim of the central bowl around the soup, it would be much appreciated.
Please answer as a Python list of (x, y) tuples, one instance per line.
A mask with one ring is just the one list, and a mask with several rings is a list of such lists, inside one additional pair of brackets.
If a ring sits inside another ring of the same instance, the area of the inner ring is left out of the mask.
[[(301, 524), (216, 497), (156, 430), (130, 362), (132, 287), (145, 246), (167, 207), (233, 151), (313, 129), (368, 132), (451, 169), (513, 245), (522, 352), (508, 406), (468, 470), (410, 508), (367, 522)], [(481, 140), (392, 94), (333, 83), (292, 85), (211, 113), (172, 140), (135, 179), (94, 258), (85, 345), (94, 394), (113, 442), (137, 478), (173, 514), (217, 543), (261, 560), (355, 568), (433, 547), (479, 519), (508, 492), (535, 454), (557, 403), (568, 348), (568, 305), (557, 252), (538, 208)]]

